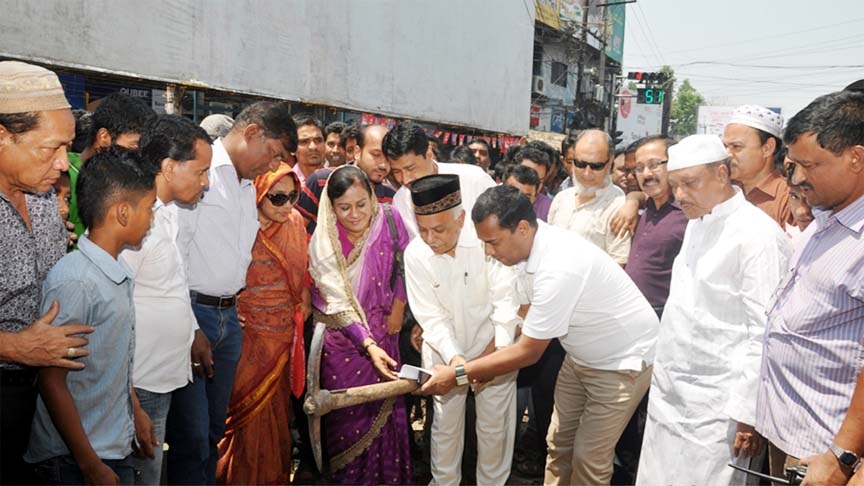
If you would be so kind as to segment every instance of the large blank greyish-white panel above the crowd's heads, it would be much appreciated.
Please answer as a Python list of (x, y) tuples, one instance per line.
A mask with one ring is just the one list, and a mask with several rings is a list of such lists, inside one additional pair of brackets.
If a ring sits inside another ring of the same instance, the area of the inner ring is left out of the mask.
[(0, 0), (0, 56), (512, 134), (533, 39), (523, 0)]

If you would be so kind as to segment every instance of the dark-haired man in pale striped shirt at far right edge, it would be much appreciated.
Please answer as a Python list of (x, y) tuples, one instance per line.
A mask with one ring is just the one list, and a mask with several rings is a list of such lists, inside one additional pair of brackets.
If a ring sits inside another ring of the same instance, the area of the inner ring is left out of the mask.
[(846, 484), (864, 454), (864, 93), (817, 98), (783, 141), (815, 219), (768, 309), (756, 429), (772, 472), (803, 459), (805, 483)]

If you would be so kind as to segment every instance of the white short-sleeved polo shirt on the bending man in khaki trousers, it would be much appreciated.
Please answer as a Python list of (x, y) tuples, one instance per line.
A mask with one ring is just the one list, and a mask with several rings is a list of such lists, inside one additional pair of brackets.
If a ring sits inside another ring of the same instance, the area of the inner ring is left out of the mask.
[(609, 255), (575, 232), (538, 221), (519, 272), (531, 308), (522, 332), (559, 338), (577, 364), (641, 370), (654, 360), (657, 315)]

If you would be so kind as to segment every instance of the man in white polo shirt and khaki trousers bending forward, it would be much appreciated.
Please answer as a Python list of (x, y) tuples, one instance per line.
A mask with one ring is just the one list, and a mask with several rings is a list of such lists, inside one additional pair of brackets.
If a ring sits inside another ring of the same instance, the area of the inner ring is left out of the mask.
[(518, 189), (484, 192), (471, 213), (485, 250), (521, 265), (531, 307), (516, 344), (455, 367), (435, 366), (421, 392), (444, 394), (537, 361), (553, 338), (558, 374), (544, 484), (608, 484), (615, 443), (648, 389), (657, 315), (624, 270), (576, 233), (538, 222)]

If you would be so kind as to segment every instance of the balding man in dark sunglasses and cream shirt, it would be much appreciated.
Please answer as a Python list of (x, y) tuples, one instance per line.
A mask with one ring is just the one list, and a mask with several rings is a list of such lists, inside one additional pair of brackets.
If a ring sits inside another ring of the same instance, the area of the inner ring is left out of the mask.
[(612, 138), (602, 130), (584, 130), (573, 145), (573, 187), (561, 191), (549, 208), (549, 224), (573, 230), (605, 251), (622, 267), (630, 254), (630, 234), (610, 229), (624, 205), (624, 191), (612, 184)]

